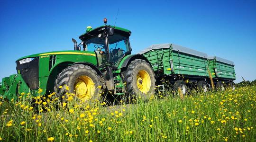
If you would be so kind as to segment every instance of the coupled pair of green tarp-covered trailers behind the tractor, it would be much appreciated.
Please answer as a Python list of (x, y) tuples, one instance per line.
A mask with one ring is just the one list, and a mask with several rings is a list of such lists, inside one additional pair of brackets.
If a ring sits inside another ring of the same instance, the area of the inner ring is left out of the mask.
[(180, 87), (183, 94), (187, 87), (196, 86), (205, 92), (210, 88), (208, 68), (217, 88), (224, 89), (225, 83), (234, 87), (234, 62), (219, 57), (209, 58), (206, 53), (176, 44), (154, 44), (139, 53), (151, 63), (156, 78), (169, 80), (174, 90)]

